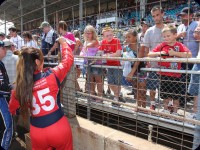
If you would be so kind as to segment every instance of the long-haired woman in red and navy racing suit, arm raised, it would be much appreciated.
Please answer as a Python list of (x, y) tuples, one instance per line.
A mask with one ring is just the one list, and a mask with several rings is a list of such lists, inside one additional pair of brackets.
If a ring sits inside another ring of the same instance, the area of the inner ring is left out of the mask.
[(18, 52), (16, 87), (9, 103), (10, 112), (30, 117), (32, 150), (72, 150), (72, 133), (67, 118), (57, 105), (60, 83), (73, 64), (71, 48), (63, 37), (61, 63), (50, 69), (43, 69), (41, 50), (23, 48)]

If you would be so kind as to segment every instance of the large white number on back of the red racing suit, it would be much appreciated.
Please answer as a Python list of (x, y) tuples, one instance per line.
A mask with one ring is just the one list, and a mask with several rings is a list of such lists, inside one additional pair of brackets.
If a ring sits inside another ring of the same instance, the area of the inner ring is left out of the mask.
[[(48, 94), (49, 92), (50, 92), (49, 88), (46, 88), (37, 92), (39, 101), (41, 104), (43, 104), (42, 107), (40, 107), (36, 103), (36, 98), (33, 96), (33, 101), (32, 101), (32, 106), (34, 108), (34, 110), (32, 110), (33, 115), (39, 114), (41, 109), (43, 109), (44, 111), (51, 111), (55, 107), (55, 99), (53, 98), (53, 96), (47, 95), (43, 97), (45, 94)], [(46, 102), (49, 102), (48, 106), (45, 105)]]

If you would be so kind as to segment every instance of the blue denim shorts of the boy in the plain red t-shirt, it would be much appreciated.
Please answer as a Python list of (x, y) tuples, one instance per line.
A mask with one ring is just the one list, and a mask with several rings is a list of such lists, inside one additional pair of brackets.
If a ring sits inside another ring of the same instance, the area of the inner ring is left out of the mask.
[(108, 84), (121, 85), (123, 72), (121, 69), (108, 68), (107, 78)]

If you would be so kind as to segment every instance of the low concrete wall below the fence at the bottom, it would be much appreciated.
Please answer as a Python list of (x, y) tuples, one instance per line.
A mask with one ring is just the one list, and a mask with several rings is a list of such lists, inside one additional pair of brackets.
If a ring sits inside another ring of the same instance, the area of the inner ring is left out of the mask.
[(69, 119), (74, 150), (169, 150), (170, 148), (105, 127), (81, 117)]

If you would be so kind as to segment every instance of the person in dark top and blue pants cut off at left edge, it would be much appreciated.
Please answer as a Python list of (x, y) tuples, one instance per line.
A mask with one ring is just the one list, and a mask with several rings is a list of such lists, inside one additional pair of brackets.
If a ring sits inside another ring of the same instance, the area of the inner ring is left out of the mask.
[(6, 68), (1, 61), (6, 55), (6, 42), (0, 41), (0, 149), (8, 150), (12, 134), (12, 117), (8, 109), (11, 85)]

